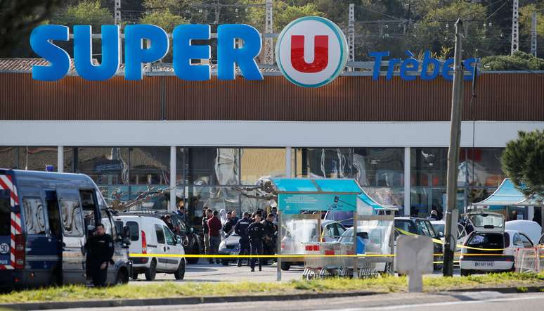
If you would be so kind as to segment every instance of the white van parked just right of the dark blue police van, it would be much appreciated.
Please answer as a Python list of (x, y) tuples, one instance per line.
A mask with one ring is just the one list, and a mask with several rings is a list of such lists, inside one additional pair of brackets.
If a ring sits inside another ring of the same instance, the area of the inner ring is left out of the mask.
[[(181, 241), (162, 220), (146, 215), (119, 215), (115, 222), (130, 228), (131, 254), (185, 255)], [(185, 276), (186, 261), (183, 257), (131, 257), (132, 279), (144, 273), (145, 279), (153, 281), (157, 272), (173, 273), (176, 279)]]

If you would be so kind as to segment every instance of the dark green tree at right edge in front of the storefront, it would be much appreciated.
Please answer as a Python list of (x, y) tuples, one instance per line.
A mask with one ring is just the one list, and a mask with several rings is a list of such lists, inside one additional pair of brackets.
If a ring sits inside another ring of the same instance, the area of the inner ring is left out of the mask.
[(529, 198), (544, 199), (544, 131), (518, 132), (506, 144), (501, 158), (503, 172)]

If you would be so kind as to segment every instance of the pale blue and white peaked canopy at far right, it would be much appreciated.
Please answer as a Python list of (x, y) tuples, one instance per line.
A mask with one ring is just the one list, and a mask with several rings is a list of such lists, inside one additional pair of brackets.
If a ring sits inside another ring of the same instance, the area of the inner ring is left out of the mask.
[(484, 201), (472, 203), (472, 205), (500, 205), (500, 206), (543, 206), (542, 202), (538, 202), (533, 198), (527, 198), (523, 193), (519, 192), (510, 181), (510, 178), (505, 178), (503, 183), (497, 188), (491, 196)]

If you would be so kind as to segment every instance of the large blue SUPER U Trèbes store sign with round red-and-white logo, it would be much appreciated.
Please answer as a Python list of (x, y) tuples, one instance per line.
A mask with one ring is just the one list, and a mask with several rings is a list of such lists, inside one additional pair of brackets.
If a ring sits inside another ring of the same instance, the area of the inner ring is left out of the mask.
[[(172, 51), (172, 66), (177, 77), (186, 81), (211, 79), (212, 58), (208, 44), (193, 44), (193, 40), (211, 39), (209, 25), (178, 25), (171, 36), (156, 25), (127, 25), (124, 27), (124, 53), (118, 25), (101, 27), (101, 63), (93, 63), (93, 30), (90, 25), (73, 27), (73, 58), (75, 70), (85, 80), (103, 81), (117, 75), (124, 55), (125, 80), (142, 80), (143, 64), (160, 61)], [(70, 54), (55, 42), (70, 41), (70, 29), (63, 25), (39, 25), (30, 34), (30, 46), (49, 65), (34, 65), (32, 78), (40, 81), (56, 81), (70, 70)], [(235, 42), (243, 42), (237, 45)], [(144, 45), (143, 43), (146, 42)], [(219, 80), (235, 80), (235, 69), (247, 80), (263, 80), (255, 58), (262, 48), (262, 36), (250, 25), (224, 24), (217, 27), (217, 77)], [(347, 64), (347, 40), (340, 28), (326, 18), (306, 16), (287, 25), (276, 43), (278, 68), (290, 82), (301, 87), (321, 87), (338, 77)], [(386, 80), (399, 70), (401, 79), (434, 80), (443, 77), (453, 80), (453, 58), (441, 63), (425, 51), (422, 61), (406, 51), (406, 59), (390, 58), (388, 51), (371, 51), (373, 58), (373, 80), (380, 76), (382, 61), (387, 63)], [(193, 64), (193, 60), (200, 63)], [(207, 60), (207, 61), (202, 61)], [(472, 80), (476, 58), (463, 62), (465, 70), (471, 72), (465, 80)], [(396, 69), (397, 68), (397, 69)]]

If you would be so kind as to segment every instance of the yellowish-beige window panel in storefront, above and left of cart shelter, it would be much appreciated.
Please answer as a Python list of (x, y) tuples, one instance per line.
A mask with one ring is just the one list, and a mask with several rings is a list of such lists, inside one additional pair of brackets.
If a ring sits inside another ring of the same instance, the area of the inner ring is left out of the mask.
[(242, 184), (254, 185), (261, 178), (285, 176), (285, 148), (240, 149)]

